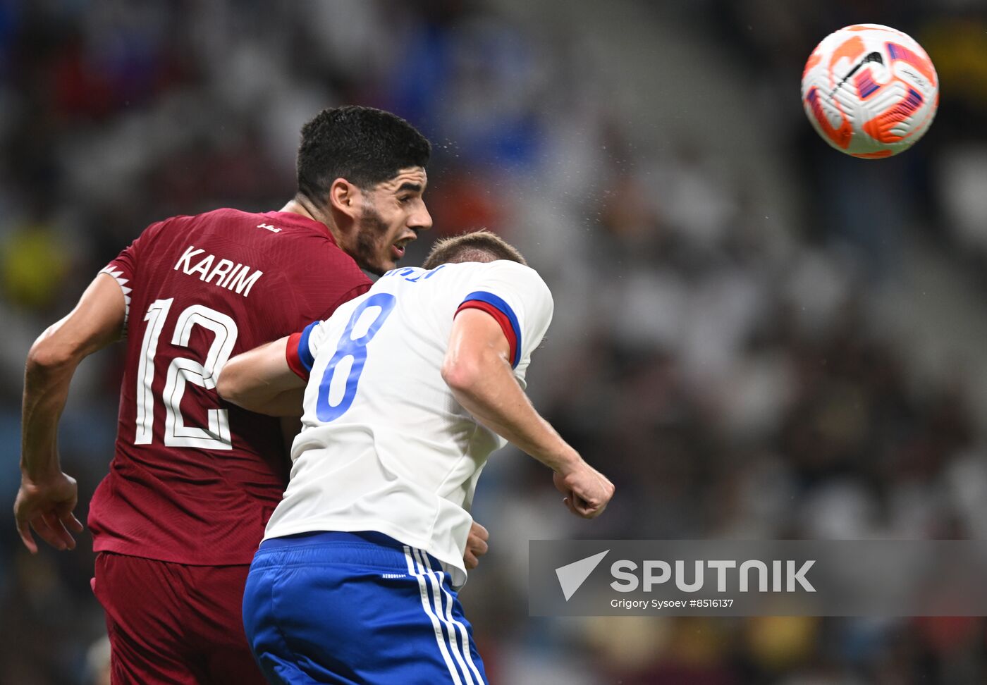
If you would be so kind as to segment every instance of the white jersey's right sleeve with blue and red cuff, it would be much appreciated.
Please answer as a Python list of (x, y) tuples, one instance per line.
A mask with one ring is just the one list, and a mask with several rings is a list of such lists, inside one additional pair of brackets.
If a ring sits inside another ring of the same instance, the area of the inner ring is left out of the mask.
[(552, 292), (538, 272), (515, 262), (494, 262), (470, 285), (456, 309), (481, 309), (500, 325), (511, 367), (526, 367), (552, 323)]

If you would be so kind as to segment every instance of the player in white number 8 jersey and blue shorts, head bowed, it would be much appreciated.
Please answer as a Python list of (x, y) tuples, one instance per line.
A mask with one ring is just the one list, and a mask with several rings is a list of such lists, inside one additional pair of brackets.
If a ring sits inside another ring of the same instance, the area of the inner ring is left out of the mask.
[(473, 233), (227, 364), (220, 395), (269, 414), (296, 413), (308, 379), (244, 596), (269, 680), (487, 682), (456, 590), (490, 453), (509, 440), (545, 463), (577, 515), (613, 495), (523, 391), (552, 308), (516, 250)]

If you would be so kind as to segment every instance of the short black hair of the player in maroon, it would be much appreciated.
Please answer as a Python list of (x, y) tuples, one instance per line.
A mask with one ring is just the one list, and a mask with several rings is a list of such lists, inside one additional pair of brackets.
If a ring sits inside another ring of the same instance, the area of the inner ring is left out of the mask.
[(369, 107), (323, 110), (302, 126), (298, 191), (325, 206), (333, 182), (361, 190), (393, 179), (408, 167), (424, 167), (431, 144), (405, 119)]

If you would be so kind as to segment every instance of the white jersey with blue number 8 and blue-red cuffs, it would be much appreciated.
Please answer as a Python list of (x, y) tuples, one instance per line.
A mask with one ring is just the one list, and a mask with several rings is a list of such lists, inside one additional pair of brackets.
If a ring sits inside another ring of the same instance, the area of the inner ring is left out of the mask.
[(377, 531), (442, 562), (458, 587), (477, 479), (505, 441), (456, 402), (441, 366), (453, 318), (490, 313), (517, 380), (552, 320), (552, 294), (514, 262), (406, 267), (288, 343), (311, 371), (291, 480), (265, 539)]

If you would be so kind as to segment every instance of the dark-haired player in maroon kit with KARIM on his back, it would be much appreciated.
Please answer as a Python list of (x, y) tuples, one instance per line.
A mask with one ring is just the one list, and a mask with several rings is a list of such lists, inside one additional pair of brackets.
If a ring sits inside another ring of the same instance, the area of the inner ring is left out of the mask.
[[(114, 459), (89, 514), (114, 683), (264, 682), (240, 606), (289, 463), (276, 419), (222, 402), (215, 377), (231, 354), (364, 292), (370, 280), (357, 264), (396, 266), (431, 226), (429, 153), (393, 114), (322, 112), (302, 128), (298, 192), (280, 211), (152, 224), (32, 346), (14, 511), (37, 552), (32, 528), (61, 550), (82, 530), (56, 444), (74, 370), (126, 338)], [(478, 534), (472, 549), (482, 554)]]

